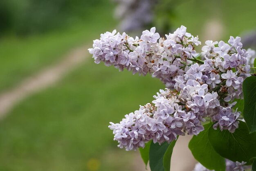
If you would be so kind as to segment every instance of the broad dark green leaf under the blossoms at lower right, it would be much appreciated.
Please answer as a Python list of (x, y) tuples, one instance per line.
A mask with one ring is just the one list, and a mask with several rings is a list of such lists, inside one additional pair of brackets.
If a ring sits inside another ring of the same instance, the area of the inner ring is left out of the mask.
[(234, 162), (245, 161), (252, 164), (251, 159), (256, 157), (256, 132), (250, 134), (246, 123), (239, 122), (239, 127), (234, 133), (210, 127), (209, 141), (220, 156)]

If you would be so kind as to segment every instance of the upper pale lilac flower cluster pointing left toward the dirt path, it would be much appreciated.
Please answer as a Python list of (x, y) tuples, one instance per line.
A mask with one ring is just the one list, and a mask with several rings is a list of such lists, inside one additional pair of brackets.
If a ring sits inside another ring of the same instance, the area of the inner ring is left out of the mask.
[(187, 59), (196, 56), (193, 45), (201, 44), (197, 37), (186, 33), (184, 26), (166, 35), (166, 39), (155, 33), (155, 27), (143, 31), (140, 39), (129, 37), (126, 33), (115, 33), (115, 30), (112, 33), (106, 32), (101, 34), (101, 39), (94, 40), (89, 52), (95, 63), (103, 61), (106, 66), (114, 65), (119, 70), (126, 68), (133, 74), (150, 73), (168, 88), (173, 88), (175, 84), (173, 77), (184, 74), (182, 63), (189, 63), (191, 61)]

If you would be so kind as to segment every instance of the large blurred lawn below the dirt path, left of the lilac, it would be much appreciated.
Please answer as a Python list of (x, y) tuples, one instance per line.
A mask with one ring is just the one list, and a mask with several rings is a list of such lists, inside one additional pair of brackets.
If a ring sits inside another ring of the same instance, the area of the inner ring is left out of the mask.
[(100, 170), (129, 170), (133, 154), (116, 147), (109, 122), (119, 122), (139, 104), (152, 101), (159, 88), (162, 83), (150, 76), (89, 60), (1, 121), (0, 170), (87, 170), (94, 158)]

